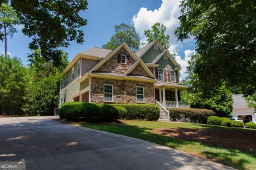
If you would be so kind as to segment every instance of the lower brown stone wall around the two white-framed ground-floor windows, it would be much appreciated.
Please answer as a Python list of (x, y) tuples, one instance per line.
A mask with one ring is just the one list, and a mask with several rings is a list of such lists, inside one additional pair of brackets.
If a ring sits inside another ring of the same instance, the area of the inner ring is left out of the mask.
[(144, 103), (154, 104), (154, 83), (91, 78), (91, 102), (104, 103), (104, 84), (113, 85), (113, 103), (137, 103), (136, 86), (144, 87)]

